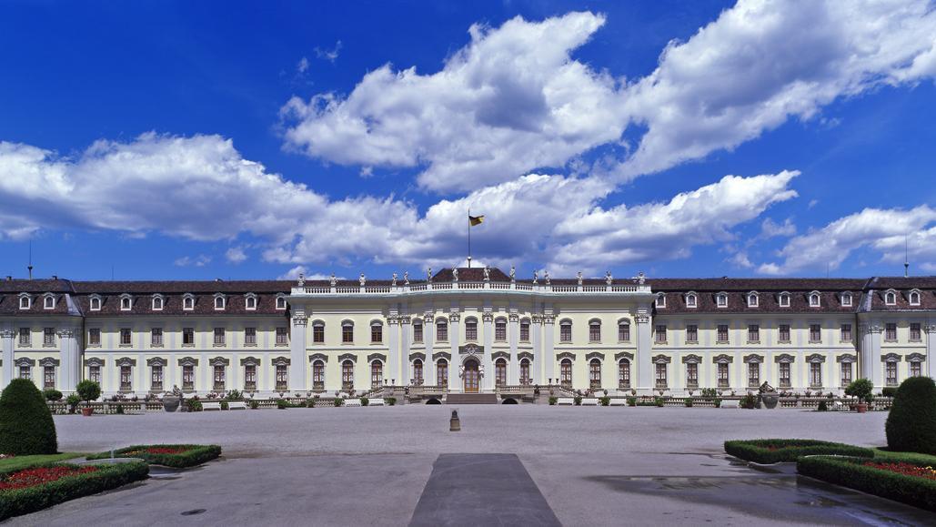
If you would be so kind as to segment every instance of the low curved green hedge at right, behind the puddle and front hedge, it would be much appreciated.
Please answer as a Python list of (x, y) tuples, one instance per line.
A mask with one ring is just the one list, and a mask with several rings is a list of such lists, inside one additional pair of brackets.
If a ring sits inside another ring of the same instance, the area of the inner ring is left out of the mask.
[[(770, 450), (768, 446), (779, 446)], [(725, 441), (724, 451), (746, 461), (755, 463), (780, 463), (797, 461), (801, 456), (839, 455), (857, 458), (873, 458), (874, 450), (861, 446), (816, 441), (814, 439), (752, 439)]]

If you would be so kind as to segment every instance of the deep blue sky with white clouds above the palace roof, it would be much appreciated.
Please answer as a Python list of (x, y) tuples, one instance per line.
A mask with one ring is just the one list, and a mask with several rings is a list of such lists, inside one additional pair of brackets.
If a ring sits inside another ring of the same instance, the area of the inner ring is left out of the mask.
[(936, 7), (0, 3), (0, 275), (936, 274)]

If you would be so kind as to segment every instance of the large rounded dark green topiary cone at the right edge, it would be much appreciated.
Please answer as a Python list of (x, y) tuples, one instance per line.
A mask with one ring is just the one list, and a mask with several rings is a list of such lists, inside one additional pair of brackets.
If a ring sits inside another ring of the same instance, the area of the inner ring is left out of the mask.
[(931, 378), (900, 383), (885, 432), (890, 450), (936, 454), (936, 384)]

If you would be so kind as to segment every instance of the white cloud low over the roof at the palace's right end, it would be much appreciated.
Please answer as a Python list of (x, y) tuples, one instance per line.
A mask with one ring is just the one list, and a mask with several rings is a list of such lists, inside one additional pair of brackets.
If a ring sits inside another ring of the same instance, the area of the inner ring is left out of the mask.
[(934, 222), (936, 210), (927, 205), (911, 210), (865, 209), (791, 239), (778, 253), (782, 262), (764, 263), (758, 271), (789, 274), (826, 265), (839, 269), (845, 258), (863, 247), (881, 252), (884, 261), (899, 262), (905, 240), (914, 261), (926, 265), (936, 261), (936, 227), (929, 227)]

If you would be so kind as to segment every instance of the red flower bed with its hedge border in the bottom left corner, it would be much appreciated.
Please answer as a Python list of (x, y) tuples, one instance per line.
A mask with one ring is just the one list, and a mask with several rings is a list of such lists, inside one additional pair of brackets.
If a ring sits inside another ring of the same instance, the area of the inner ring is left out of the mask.
[(0, 471), (0, 520), (145, 479), (145, 463), (80, 466), (37, 464)]

